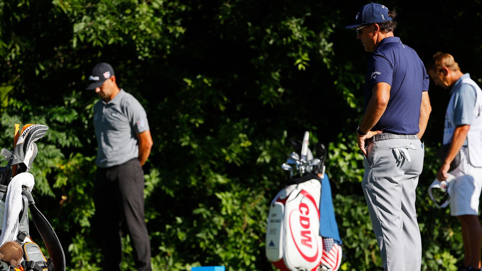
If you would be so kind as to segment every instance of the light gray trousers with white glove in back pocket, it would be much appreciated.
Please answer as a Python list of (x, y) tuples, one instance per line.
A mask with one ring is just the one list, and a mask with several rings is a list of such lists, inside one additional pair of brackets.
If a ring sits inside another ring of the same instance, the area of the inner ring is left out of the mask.
[[(394, 148), (404, 148), (397, 159)], [(425, 149), (419, 139), (387, 139), (366, 147), (362, 188), (385, 271), (420, 271), (422, 244), (415, 212), (415, 189)]]

